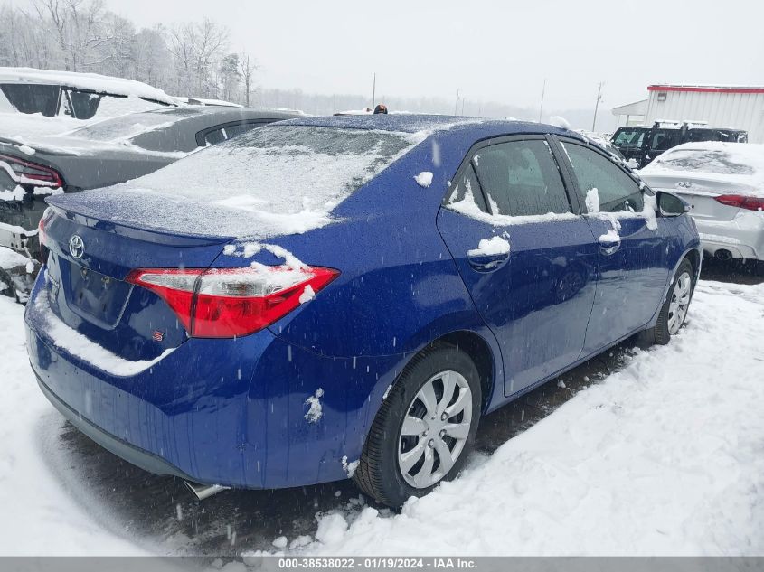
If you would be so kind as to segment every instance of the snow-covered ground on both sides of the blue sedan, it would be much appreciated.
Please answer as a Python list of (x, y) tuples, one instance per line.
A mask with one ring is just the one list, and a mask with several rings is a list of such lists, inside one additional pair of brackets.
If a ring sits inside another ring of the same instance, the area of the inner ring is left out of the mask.
[[(98, 459), (61, 454), (71, 430), (37, 389), (22, 314), (0, 298), (3, 555), (188, 552), (194, 531), (236, 554), (764, 555), (764, 284), (702, 281), (670, 345), (627, 352), (616, 372), (401, 514), (349, 501), (352, 487), (338, 483), (315, 520), (312, 493), (291, 492), (306, 498), (307, 529), (280, 522), (283, 532), (259, 535), (246, 528), (282, 515), (241, 511), (270, 492), (223, 492), (182, 533), (174, 522), (187, 524), (195, 505), (179, 499), (160, 507), (153, 535), (138, 531), (146, 514), (124, 510), (144, 502), (135, 473), (103, 483)], [(233, 517), (210, 514), (220, 502), (237, 504)], [(202, 530), (204, 519), (219, 521)]]

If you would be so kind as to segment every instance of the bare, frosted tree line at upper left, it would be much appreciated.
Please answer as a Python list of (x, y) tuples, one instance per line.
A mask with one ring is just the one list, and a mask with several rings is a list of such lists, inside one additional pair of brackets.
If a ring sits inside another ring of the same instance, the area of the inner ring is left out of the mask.
[(212, 20), (137, 29), (102, 0), (0, 6), (0, 66), (101, 73), (176, 96), (250, 105), (256, 61)]

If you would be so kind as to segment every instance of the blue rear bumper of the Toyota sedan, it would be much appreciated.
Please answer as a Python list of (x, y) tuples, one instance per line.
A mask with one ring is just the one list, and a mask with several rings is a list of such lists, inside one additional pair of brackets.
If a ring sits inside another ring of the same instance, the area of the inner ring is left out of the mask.
[[(191, 339), (145, 370), (115, 375), (50, 339), (40, 283), (25, 326), (46, 397), (112, 453), (196, 483), (269, 489), (347, 478), (403, 359), (326, 358), (263, 330)], [(318, 389), (322, 415), (311, 420), (307, 399)]]

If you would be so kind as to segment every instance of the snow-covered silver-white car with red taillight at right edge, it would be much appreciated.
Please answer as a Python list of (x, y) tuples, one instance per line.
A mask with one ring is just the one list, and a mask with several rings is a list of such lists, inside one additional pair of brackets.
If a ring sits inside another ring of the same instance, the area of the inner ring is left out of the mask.
[(764, 260), (764, 145), (685, 143), (638, 173), (690, 205), (706, 253)]

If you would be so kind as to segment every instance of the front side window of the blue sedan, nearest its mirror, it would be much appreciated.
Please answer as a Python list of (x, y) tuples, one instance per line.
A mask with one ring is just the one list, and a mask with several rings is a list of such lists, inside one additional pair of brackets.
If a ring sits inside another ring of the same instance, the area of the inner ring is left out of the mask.
[[(579, 187), (587, 196), (590, 211), (642, 211), (639, 184), (607, 157), (583, 145), (562, 143), (573, 165)], [(592, 193), (597, 200), (592, 201)], [(599, 203), (599, 208), (593, 205)]]

